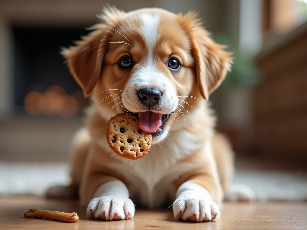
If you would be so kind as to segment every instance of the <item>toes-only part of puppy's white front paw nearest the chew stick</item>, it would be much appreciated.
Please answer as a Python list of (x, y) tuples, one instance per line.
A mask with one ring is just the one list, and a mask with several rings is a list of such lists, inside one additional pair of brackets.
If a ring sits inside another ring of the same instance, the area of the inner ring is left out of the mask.
[(125, 220), (134, 217), (134, 204), (127, 198), (96, 197), (87, 206), (87, 215), (100, 220)]

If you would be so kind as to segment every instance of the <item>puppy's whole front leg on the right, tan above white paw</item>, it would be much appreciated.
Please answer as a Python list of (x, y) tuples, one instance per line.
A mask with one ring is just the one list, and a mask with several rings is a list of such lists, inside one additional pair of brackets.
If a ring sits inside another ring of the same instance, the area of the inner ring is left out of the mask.
[(205, 142), (198, 152), (190, 156), (190, 160), (198, 167), (174, 181), (177, 187), (174, 217), (192, 222), (216, 221), (220, 217), (218, 205), (222, 204), (223, 189), (211, 142)]

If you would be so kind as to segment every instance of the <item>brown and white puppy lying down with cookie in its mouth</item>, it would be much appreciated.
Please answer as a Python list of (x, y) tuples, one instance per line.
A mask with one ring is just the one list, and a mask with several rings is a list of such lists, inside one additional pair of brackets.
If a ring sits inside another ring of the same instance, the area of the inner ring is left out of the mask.
[[(63, 51), (92, 104), (73, 144), (72, 184), (62, 192), (79, 189), (88, 216), (102, 220), (133, 218), (134, 204), (173, 205), (179, 220), (217, 220), (233, 162), (227, 141), (214, 134), (207, 100), (230, 70), (231, 54), (193, 12), (111, 8), (100, 17), (93, 32)], [(152, 133), (142, 159), (119, 157), (107, 144), (106, 123), (123, 112)]]

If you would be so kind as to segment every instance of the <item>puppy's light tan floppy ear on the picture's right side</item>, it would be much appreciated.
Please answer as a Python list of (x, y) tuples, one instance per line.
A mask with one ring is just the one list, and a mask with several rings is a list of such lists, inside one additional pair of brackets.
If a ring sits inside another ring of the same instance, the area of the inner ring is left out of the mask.
[(232, 53), (227, 46), (216, 44), (210, 34), (199, 23), (194, 27), (191, 37), (192, 52), (196, 64), (197, 83), (205, 100), (225, 78), (231, 69)]

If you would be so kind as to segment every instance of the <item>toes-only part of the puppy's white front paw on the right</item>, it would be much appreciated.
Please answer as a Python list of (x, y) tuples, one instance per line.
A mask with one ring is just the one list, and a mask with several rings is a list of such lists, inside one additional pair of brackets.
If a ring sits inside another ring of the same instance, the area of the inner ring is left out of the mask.
[(177, 198), (173, 203), (173, 212), (176, 220), (192, 222), (216, 221), (220, 217), (220, 209), (216, 203), (196, 197)]

